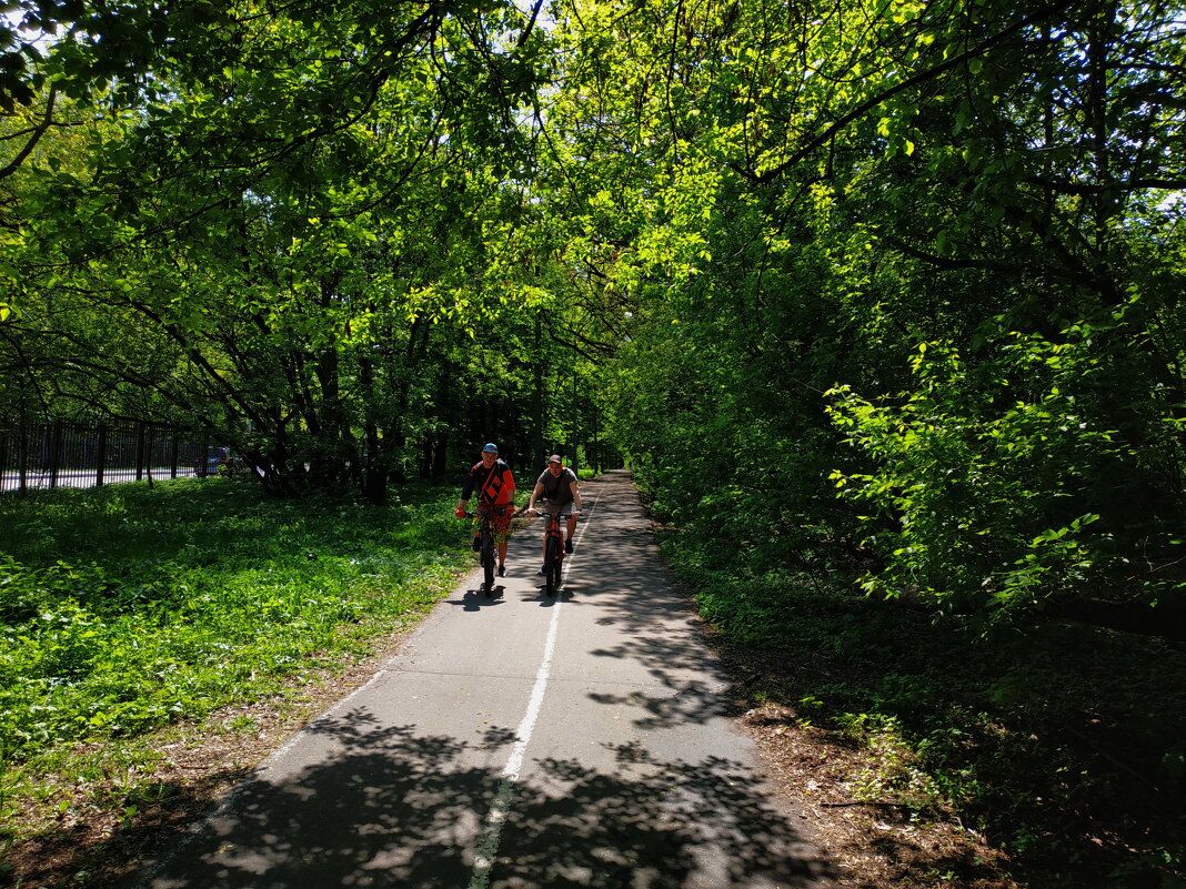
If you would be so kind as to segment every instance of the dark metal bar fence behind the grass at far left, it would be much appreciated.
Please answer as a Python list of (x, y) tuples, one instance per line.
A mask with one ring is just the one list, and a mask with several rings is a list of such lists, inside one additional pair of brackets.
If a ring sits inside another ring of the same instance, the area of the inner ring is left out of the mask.
[(0, 493), (205, 475), (217, 468), (213, 443), (206, 434), (160, 423), (2, 429)]

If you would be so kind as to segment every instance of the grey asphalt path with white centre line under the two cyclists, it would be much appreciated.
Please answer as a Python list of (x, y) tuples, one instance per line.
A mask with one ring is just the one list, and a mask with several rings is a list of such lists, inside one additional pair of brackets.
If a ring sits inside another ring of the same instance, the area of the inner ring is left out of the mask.
[(133, 884), (830, 885), (761, 784), (627, 474), (582, 491), (561, 600), (531, 525), (500, 595), (467, 578)]

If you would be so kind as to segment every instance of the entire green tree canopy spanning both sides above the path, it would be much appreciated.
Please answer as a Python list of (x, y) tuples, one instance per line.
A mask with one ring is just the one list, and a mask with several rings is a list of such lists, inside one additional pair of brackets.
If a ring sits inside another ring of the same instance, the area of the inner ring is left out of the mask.
[(12, 5), (0, 412), (620, 453), (721, 557), (1180, 602), (1173, 4)]

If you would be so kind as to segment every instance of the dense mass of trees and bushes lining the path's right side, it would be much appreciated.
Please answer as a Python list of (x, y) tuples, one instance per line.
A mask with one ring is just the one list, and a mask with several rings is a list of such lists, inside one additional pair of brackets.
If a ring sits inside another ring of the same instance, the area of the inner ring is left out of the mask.
[(565, 8), (570, 249), (635, 302), (618, 431), (667, 505), (990, 615), (1173, 583), (1173, 9)]

